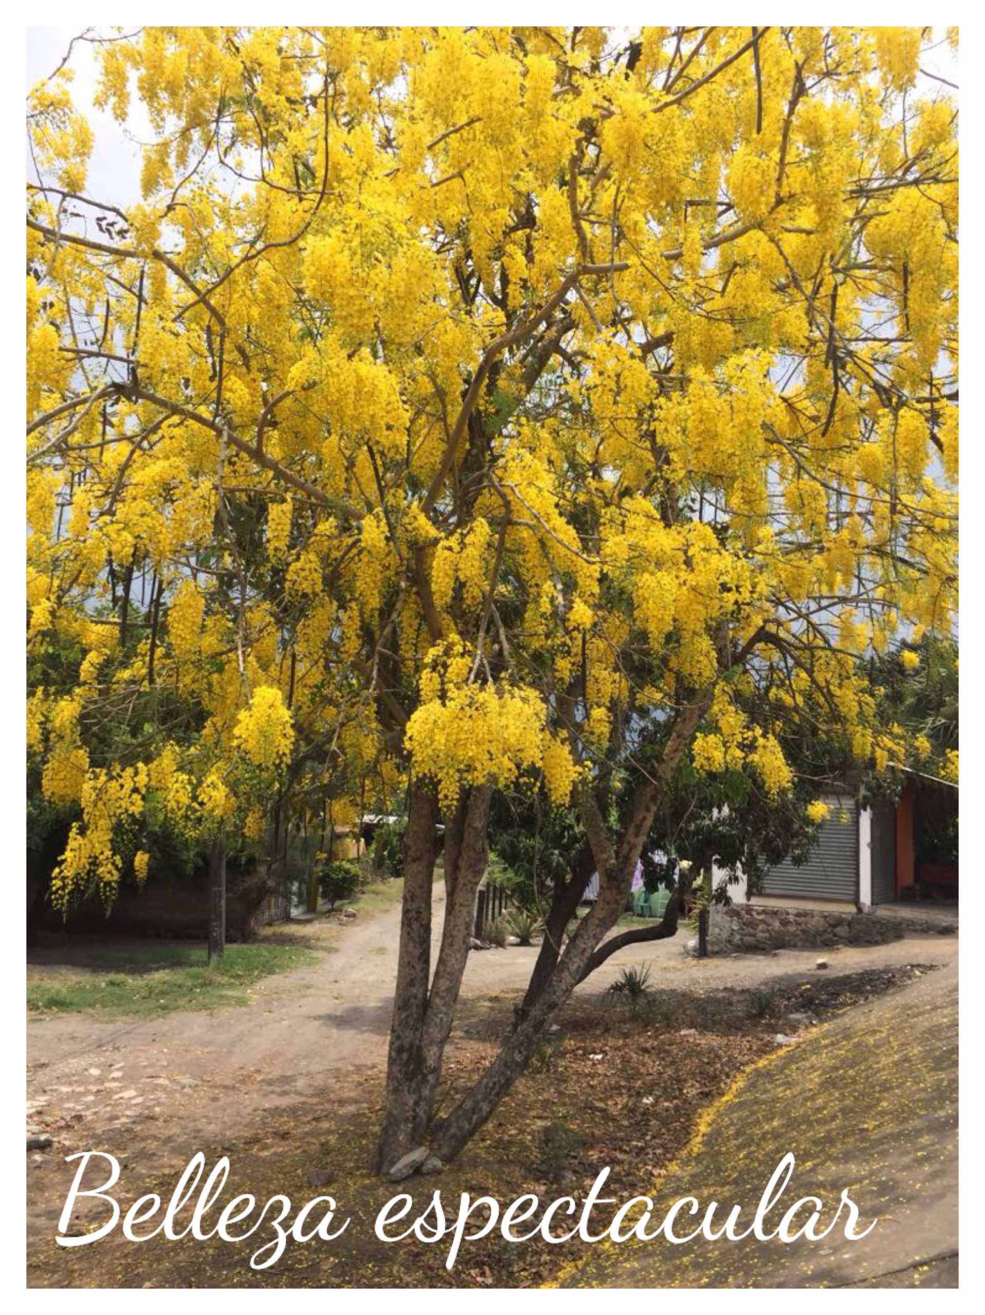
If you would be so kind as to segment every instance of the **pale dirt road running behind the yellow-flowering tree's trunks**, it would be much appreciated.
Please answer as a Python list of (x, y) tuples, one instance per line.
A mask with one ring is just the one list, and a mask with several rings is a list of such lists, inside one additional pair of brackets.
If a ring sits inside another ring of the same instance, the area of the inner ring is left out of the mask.
[[(433, 955), (441, 934), (444, 886), (433, 906)], [(328, 1095), (332, 1088), (386, 1059), (399, 905), (376, 918), (338, 926), (309, 923), (285, 934), (311, 940), (318, 961), (264, 978), (250, 1005), (217, 1011), (177, 1011), (134, 1022), (62, 1014), (28, 1023), (28, 1115), (84, 1126), (125, 1128), (147, 1116), (180, 1122), (185, 1137), (214, 1134), (217, 1122)], [(817, 952), (692, 960), (683, 936), (630, 947), (579, 988), (599, 992), (630, 964), (647, 964), (655, 989), (690, 990), (750, 985), (766, 977), (814, 969)], [(896, 942), (880, 951), (846, 948), (830, 955), (833, 970), (906, 963), (921, 955), (943, 961), (956, 942), (936, 938)], [(473, 952), (462, 988), (462, 1022), (477, 1006), (504, 1001), (529, 980), (536, 947)], [(197, 1118), (201, 1114), (202, 1118)], [(180, 1120), (179, 1120), (180, 1115)], [(162, 1130), (163, 1131), (163, 1130)]]

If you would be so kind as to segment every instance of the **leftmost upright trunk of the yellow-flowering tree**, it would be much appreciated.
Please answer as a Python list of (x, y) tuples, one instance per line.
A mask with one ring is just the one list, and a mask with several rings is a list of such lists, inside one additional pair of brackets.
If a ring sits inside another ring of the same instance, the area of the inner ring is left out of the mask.
[(383, 1124), (376, 1169), (382, 1172), (420, 1145), (429, 1109), (423, 1099), (422, 1032), (431, 976), (431, 885), (437, 857), (437, 798), (416, 781), (403, 836), (403, 902)]

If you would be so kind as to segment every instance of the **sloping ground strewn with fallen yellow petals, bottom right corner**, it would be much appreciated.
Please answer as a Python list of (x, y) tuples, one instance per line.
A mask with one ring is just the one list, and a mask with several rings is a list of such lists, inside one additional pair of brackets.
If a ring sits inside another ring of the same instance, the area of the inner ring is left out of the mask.
[[(913, 944), (913, 943), (911, 943)], [(926, 942), (923, 943), (926, 944)], [(791, 1186), (770, 1223), (843, 1187), (867, 1237), (599, 1248), (578, 1287), (953, 1287), (957, 1285), (957, 963), (848, 1010), (751, 1072), (654, 1193), (658, 1216), (693, 1195), (722, 1216), (760, 1193), (788, 1151)], [(801, 1218), (806, 1218), (806, 1212)], [(822, 1222), (822, 1227), (823, 1227)], [(717, 1223), (721, 1223), (718, 1219)], [(684, 1230), (679, 1230), (684, 1231)], [(687, 1231), (691, 1231), (688, 1223)]]

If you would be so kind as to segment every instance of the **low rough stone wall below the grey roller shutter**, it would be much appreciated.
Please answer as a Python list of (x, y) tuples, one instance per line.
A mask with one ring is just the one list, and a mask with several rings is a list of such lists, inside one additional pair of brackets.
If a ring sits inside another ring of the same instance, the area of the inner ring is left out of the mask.
[(880, 918), (873, 913), (830, 913), (822, 909), (770, 905), (714, 905), (708, 927), (713, 955), (750, 949), (796, 949), (812, 945), (883, 945), (906, 935), (940, 935), (953, 928), (914, 918)]

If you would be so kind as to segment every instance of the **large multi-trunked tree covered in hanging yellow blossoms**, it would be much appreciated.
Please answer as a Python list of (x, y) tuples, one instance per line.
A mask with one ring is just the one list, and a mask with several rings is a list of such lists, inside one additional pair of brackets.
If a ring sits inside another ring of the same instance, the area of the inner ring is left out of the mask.
[[(79, 663), (29, 702), (43, 788), (77, 802), (55, 896), (112, 893), (148, 810), (259, 834), (272, 788), (408, 782), (382, 1168), (495, 1109), (675, 773), (779, 794), (791, 718), (918, 753), (858, 656), (956, 606), (932, 39), (108, 36), (98, 100), (152, 129), (129, 206), (87, 192), (67, 71), (30, 96), (28, 643)], [(577, 806), (599, 898), (433, 1123), (503, 789)]]

